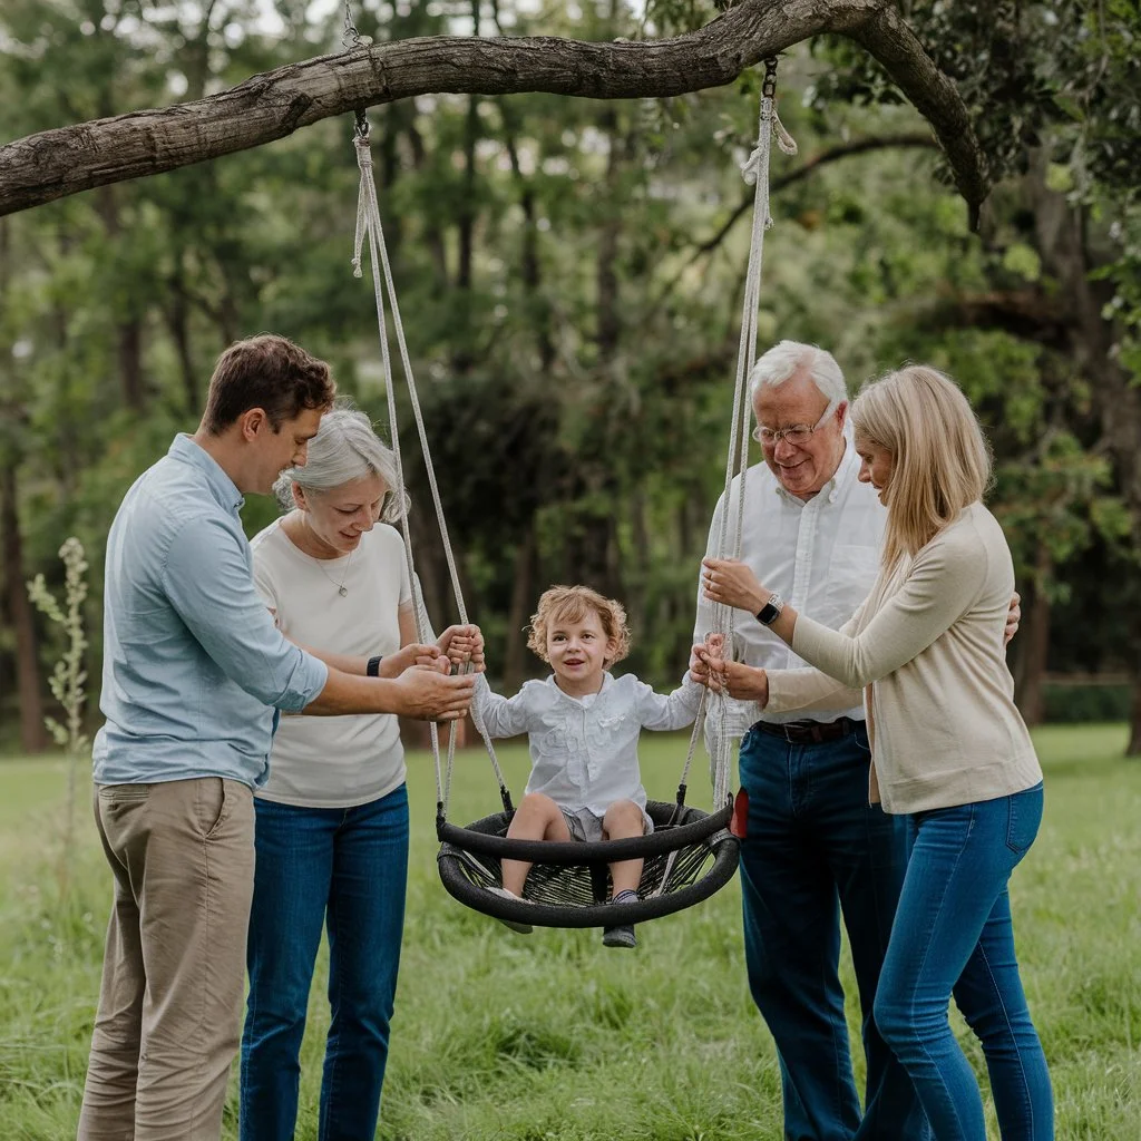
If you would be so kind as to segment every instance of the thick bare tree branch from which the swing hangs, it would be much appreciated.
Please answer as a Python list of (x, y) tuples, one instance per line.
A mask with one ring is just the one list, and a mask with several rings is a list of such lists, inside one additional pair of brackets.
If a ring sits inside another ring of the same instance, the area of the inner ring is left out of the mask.
[(427, 37), (322, 56), (202, 99), (9, 143), (0, 147), (0, 215), (245, 151), (331, 115), (415, 95), (633, 99), (721, 87), (825, 32), (861, 44), (930, 121), (974, 217), (989, 179), (966, 106), (891, 0), (744, 0), (696, 32), (657, 41)]

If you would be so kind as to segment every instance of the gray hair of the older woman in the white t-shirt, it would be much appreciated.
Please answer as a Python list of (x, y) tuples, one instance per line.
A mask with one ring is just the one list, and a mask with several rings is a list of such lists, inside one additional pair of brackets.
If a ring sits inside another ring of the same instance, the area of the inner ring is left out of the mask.
[(274, 484), (277, 502), (286, 511), (294, 508), (293, 484), (306, 492), (331, 492), (343, 484), (380, 476), (388, 491), (380, 518), (394, 523), (408, 509), (408, 496), (397, 502), (396, 453), (373, 431), (372, 421), (351, 400), (339, 399), (321, 418), (317, 435), (309, 440), (304, 467), (286, 468)]

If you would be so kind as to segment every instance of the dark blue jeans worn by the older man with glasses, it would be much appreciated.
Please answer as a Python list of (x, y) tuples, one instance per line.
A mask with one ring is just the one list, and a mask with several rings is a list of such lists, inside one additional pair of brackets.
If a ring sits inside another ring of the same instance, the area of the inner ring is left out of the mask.
[[(906, 823), (868, 804), (863, 726), (792, 745), (751, 729), (741, 879), (748, 986), (776, 1041), (786, 1141), (926, 1141), (915, 1089), (872, 1019), (907, 861)], [(867, 1059), (852, 1075), (840, 986), (840, 916), (852, 949)]]

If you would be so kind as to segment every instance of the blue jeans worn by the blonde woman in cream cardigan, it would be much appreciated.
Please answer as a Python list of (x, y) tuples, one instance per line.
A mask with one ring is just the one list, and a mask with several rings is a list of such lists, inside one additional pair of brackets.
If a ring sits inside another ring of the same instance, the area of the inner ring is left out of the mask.
[(875, 1021), (938, 1141), (986, 1141), (978, 1082), (947, 1020), (982, 1043), (1003, 1141), (1051, 1141), (1053, 1097), (1014, 957), (1006, 883), (1042, 820), (1042, 785), (909, 817), (912, 852)]

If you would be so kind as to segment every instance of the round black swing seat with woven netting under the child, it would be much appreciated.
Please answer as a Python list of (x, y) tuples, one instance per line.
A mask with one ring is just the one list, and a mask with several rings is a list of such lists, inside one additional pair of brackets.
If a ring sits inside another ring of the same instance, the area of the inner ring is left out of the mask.
[[(608, 926), (616, 921), (608, 864), (645, 860), (638, 901), (622, 905), (623, 923), (670, 915), (709, 898), (737, 869), (737, 837), (728, 831), (731, 807), (717, 812), (665, 801), (646, 806), (654, 832), (596, 843), (508, 840), (511, 814), (496, 812), (461, 828), (438, 822), (437, 863), (447, 891), (461, 904), (495, 919), (535, 926)], [(502, 887), (500, 860), (533, 864), (524, 900), (489, 891)]]

